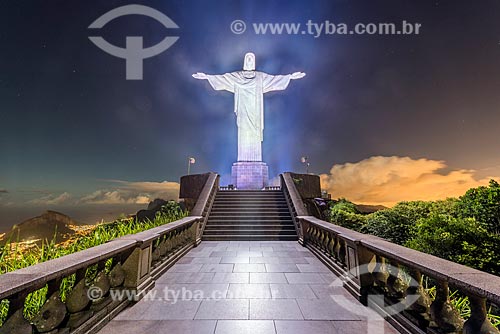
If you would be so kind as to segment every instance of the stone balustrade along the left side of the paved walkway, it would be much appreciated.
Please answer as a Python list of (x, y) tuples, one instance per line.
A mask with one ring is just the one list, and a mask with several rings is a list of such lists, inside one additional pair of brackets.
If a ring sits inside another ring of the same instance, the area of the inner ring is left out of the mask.
[[(68, 329), (71, 333), (97, 332), (127, 304), (142, 298), (153, 288), (156, 278), (195, 246), (201, 218), (188, 216), (0, 275), (0, 301), (9, 301), (7, 319), (0, 326), (0, 333), (30, 332), (33, 327), (43, 332)], [(89, 276), (87, 269), (94, 266), (97, 275)], [(75, 283), (63, 302), (61, 283), (72, 275)], [(89, 283), (101, 289), (98, 298), (89, 294)], [(48, 286), (47, 301), (30, 323), (23, 316), (26, 297), (45, 286)], [(110, 290), (133, 293), (113, 299)], [(106, 312), (102, 312), (103, 307)]]

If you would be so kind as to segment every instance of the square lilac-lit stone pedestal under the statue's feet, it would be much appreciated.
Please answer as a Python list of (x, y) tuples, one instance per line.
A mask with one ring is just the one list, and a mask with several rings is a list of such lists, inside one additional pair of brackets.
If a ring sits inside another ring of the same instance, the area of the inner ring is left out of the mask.
[(269, 172), (261, 161), (238, 161), (231, 169), (231, 181), (239, 190), (260, 190), (267, 187)]

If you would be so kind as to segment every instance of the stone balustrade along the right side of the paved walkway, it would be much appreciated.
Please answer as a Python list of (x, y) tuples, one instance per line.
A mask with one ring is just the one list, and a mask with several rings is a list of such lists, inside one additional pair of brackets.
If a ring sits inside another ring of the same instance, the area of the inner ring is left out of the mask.
[[(304, 230), (304, 245), (332, 271), (349, 277), (345, 287), (361, 301), (367, 303), (367, 295), (373, 292), (383, 295), (389, 304), (404, 302), (409, 294), (418, 295), (415, 305), (409, 303), (404, 312), (388, 317), (400, 331), (427, 333), (437, 326), (457, 332), (463, 329), (464, 333), (500, 333), (486, 315), (486, 302), (500, 305), (500, 277), (312, 216), (298, 219)], [(411, 274), (414, 286), (405, 286), (403, 271)], [(422, 275), (436, 282), (437, 295), (432, 304), (422, 286)], [(469, 297), (471, 316), (467, 321), (450, 311), (449, 286)], [(386, 312), (383, 305), (369, 306)]]

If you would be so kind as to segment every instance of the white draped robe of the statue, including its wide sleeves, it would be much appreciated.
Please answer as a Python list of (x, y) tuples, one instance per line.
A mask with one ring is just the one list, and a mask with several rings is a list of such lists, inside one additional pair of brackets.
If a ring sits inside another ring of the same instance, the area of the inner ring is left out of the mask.
[(262, 161), (264, 139), (264, 93), (284, 90), (290, 75), (270, 75), (258, 71), (237, 71), (207, 75), (215, 90), (234, 93), (238, 125), (238, 161)]

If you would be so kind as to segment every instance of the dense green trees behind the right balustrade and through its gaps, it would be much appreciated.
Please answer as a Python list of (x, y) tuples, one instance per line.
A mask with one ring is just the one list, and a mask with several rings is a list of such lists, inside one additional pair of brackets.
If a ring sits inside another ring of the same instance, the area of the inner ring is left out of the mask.
[[(500, 184), (494, 180), (459, 198), (400, 202), (370, 214), (340, 199), (332, 203), (328, 216), (337, 225), (500, 275)], [(431, 298), (434, 289), (426, 289)], [(450, 299), (464, 318), (470, 316), (467, 297), (455, 291)], [(490, 310), (489, 318), (500, 326), (498, 309)]]

